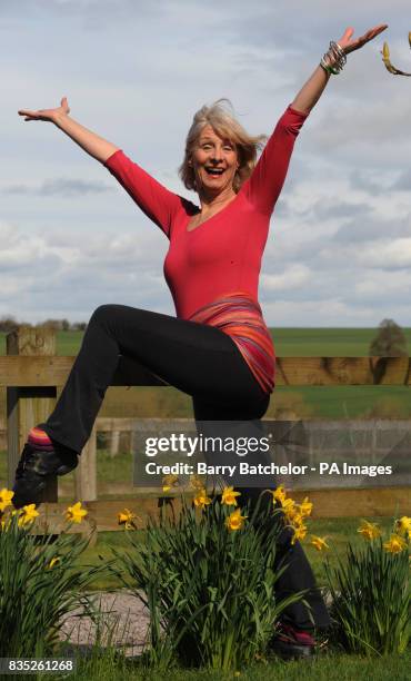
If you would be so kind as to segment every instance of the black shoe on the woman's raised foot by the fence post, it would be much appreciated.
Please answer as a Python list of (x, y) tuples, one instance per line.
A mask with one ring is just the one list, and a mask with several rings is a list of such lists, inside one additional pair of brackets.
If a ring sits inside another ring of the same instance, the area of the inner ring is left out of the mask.
[(27, 443), (16, 470), (13, 486), (14, 509), (28, 504), (40, 504), (47, 481), (50, 476), (66, 475), (76, 468), (78, 456), (72, 450), (59, 447), (58, 451), (36, 450)]

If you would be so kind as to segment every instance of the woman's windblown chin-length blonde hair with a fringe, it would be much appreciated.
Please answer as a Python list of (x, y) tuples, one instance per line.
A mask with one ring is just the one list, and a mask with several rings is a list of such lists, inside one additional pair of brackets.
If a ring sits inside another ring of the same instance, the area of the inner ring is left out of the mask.
[(257, 155), (267, 140), (265, 135), (252, 137), (233, 116), (233, 108), (229, 99), (218, 99), (210, 107), (203, 106), (194, 114), (191, 128), (186, 139), (184, 159), (179, 168), (179, 176), (187, 189), (197, 189), (196, 176), (190, 160), (193, 148), (204, 126), (211, 126), (215, 135), (230, 140), (238, 154), (239, 168), (235, 172), (232, 187), (235, 193), (250, 177), (257, 164)]

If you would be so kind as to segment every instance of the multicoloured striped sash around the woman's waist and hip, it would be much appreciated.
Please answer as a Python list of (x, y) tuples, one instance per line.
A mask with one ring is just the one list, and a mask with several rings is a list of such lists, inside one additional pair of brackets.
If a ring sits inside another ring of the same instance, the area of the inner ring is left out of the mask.
[(215, 326), (230, 336), (262, 389), (272, 393), (274, 347), (261, 307), (249, 294), (227, 294), (198, 309), (189, 319)]

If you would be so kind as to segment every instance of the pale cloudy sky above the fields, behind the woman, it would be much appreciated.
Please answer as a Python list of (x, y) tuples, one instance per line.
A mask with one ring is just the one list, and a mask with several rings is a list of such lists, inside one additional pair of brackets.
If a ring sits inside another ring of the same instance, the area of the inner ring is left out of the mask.
[(52, 124), (59, 106), (191, 200), (178, 178), (194, 112), (231, 100), (270, 135), (331, 39), (349, 55), (297, 140), (260, 279), (270, 326), (411, 326), (409, 0), (0, 0), (0, 317), (88, 320), (106, 303), (174, 314), (168, 240)]

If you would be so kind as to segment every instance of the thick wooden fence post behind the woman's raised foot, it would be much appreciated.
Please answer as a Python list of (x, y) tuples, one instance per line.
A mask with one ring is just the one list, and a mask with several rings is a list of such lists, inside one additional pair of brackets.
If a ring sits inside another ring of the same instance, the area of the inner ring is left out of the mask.
[[(56, 332), (47, 327), (21, 326), (6, 338), (7, 355), (56, 355)], [(7, 388), (8, 485), (14, 482), (16, 467), (28, 432), (44, 422), (56, 403), (56, 386)], [(57, 502), (57, 477), (50, 478), (43, 495)]]

